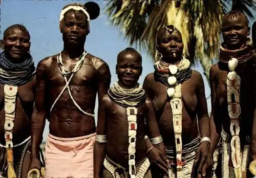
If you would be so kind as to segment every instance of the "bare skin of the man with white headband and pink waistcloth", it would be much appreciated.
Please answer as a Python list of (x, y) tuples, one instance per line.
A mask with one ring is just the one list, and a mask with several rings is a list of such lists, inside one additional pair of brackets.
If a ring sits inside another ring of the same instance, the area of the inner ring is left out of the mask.
[[(73, 11), (64, 16), (62, 38), (64, 49), (62, 61), (65, 69), (73, 70), (77, 60), (82, 55), (86, 41), (87, 16), (81, 14), (77, 19)], [(57, 55), (41, 60), (37, 65), (37, 86), (35, 109), (32, 115), (32, 163), (30, 169), (40, 169), (38, 147), (40, 137), (45, 127), (47, 113), (66, 85), (65, 79), (58, 71)], [(81, 69), (70, 82), (74, 100), (87, 113), (94, 113), (96, 95), (98, 100), (107, 93), (111, 74), (108, 64), (91, 54), (86, 55)], [(100, 102), (99, 102), (100, 105)], [(50, 133), (56, 137), (73, 138), (90, 135), (96, 131), (94, 118), (81, 114), (74, 105), (66, 90), (52, 110), (50, 118)]]

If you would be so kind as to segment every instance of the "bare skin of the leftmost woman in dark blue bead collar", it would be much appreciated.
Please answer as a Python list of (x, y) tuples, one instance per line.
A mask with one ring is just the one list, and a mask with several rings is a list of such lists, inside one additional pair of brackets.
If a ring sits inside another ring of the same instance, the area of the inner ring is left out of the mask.
[[(27, 33), (17, 28), (10, 29), (2, 40), (7, 58), (13, 63), (22, 62), (30, 49), (30, 38)], [(35, 94), (35, 78), (18, 87), (16, 100), (16, 114), (13, 129), (13, 145), (19, 144), (27, 139), (31, 134), (30, 124), (33, 112), (34, 94)], [(4, 84), (0, 84), (0, 143), (5, 145), (5, 100), (4, 100)], [(15, 148), (14, 148), (15, 151)], [(15, 153), (15, 152), (14, 152)], [(15, 159), (15, 154), (14, 154)], [(25, 154), (23, 163), (22, 177), (27, 176), (30, 163), (30, 153)]]

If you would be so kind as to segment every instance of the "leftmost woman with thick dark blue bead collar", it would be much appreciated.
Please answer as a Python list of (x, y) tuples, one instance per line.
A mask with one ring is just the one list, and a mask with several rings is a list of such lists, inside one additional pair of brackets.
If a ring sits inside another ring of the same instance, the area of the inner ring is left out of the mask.
[(35, 94), (30, 34), (19, 24), (4, 31), (0, 54), (0, 176), (27, 177)]

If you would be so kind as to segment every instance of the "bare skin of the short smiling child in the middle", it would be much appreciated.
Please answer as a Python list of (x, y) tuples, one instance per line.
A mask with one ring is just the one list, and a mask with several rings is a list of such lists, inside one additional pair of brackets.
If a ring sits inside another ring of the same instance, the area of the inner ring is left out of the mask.
[[(133, 54), (126, 54), (118, 59), (116, 68), (118, 79), (121, 85), (125, 87), (134, 87), (141, 75), (141, 59)], [(154, 138), (160, 136), (160, 132), (155, 118), (154, 106), (151, 100), (146, 99), (145, 104), (138, 107), (137, 114), (137, 135), (136, 135), (136, 163), (144, 160), (147, 149), (152, 147), (148, 139), (144, 139), (147, 135), (144, 128), (144, 118), (147, 119), (148, 137)], [(101, 177), (103, 170), (103, 160), (105, 155), (120, 164), (124, 168), (129, 168), (128, 160), (128, 125), (126, 109), (104, 95), (102, 105), (98, 113), (97, 135), (107, 135), (107, 143), (95, 142), (94, 146), (94, 177)], [(150, 157), (153, 162), (167, 172), (167, 165), (164, 163), (166, 157), (164, 155), (163, 143), (155, 145), (158, 149), (150, 151)], [(113, 151), (115, 150), (115, 151)]]

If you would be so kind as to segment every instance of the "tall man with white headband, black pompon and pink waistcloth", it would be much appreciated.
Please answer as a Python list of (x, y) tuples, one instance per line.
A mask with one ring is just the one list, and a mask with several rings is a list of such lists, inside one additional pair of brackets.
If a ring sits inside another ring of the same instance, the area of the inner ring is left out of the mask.
[(90, 19), (98, 15), (99, 7), (93, 2), (63, 7), (63, 50), (37, 65), (30, 168), (39, 169), (38, 148), (49, 116), (46, 177), (93, 177), (95, 100), (97, 94), (100, 101), (108, 92), (111, 80), (108, 64), (84, 49), (92, 32)]

